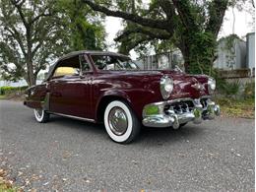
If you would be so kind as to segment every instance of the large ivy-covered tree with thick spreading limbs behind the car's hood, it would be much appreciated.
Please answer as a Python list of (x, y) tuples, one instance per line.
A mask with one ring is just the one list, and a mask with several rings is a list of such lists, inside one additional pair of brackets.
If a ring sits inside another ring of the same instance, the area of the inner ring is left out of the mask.
[(134, 23), (116, 38), (127, 50), (145, 41), (171, 41), (181, 50), (187, 72), (212, 73), (228, 0), (152, 0), (148, 6), (137, 4), (136, 12), (118, 7), (119, 0), (83, 1), (95, 11)]

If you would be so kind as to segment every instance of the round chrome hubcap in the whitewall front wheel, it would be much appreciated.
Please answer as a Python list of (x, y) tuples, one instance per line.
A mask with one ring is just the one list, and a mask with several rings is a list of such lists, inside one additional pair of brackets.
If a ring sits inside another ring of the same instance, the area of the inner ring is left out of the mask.
[(128, 127), (125, 111), (120, 107), (113, 107), (108, 114), (108, 124), (115, 135), (123, 135)]

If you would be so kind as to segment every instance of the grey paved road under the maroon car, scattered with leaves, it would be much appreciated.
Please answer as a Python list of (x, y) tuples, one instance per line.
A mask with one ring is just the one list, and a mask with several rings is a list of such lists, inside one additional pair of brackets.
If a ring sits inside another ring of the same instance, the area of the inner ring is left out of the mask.
[(58, 116), (38, 124), (21, 102), (0, 100), (0, 120), (0, 166), (26, 190), (254, 189), (254, 120), (143, 130), (130, 145), (110, 141), (102, 125)]

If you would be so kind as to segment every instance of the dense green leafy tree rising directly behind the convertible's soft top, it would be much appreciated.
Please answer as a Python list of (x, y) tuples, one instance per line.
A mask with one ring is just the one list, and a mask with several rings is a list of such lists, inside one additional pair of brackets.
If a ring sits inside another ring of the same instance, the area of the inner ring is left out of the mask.
[(105, 48), (102, 15), (96, 14), (81, 0), (60, 0), (57, 7), (66, 27), (70, 50)]

